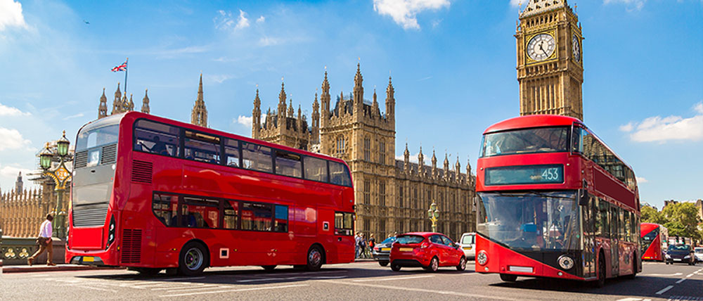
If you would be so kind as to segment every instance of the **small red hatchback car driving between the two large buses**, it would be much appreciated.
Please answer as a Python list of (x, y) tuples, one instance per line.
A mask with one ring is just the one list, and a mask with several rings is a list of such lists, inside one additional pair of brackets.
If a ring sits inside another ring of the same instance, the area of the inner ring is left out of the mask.
[(422, 267), (427, 271), (437, 271), (439, 267), (466, 269), (466, 257), (458, 244), (442, 233), (411, 232), (398, 236), (390, 254), (391, 269), (401, 267)]

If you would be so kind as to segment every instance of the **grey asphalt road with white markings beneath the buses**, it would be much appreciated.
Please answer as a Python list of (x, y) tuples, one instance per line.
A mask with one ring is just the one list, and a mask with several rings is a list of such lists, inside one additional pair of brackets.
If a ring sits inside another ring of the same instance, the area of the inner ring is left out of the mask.
[(126, 270), (53, 271), (0, 276), (0, 300), (703, 300), (703, 266), (645, 262), (634, 280), (604, 288), (553, 279), (502, 282), (495, 274), (441, 268), (393, 272), (375, 262), (325, 265), (318, 272), (278, 267), (207, 269), (197, 277), (141, 277)]

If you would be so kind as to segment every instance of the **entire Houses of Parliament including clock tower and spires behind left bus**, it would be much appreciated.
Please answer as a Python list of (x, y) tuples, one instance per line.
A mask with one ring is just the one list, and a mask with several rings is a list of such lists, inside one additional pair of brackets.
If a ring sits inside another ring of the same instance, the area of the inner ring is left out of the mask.
[[(578, 16), (567, 1), (529, 0), (517, 20), (515, 39), (520, 115), (557, 114), (583, 119), (583, 37)], [(356, 231), (366, 236), (374, 233), (382, 240), (395, 232), (430, 231), (427, 210), (432, 202), (437, 203), (440, 211), (437, 231), (452, 238), (475, 231), (475, 176), (469, 162), (462, 167), (456, 158), (452, 164), (445, 153), (438, 165), (437, 154), (432, 151), (429, 164), (425, 164), (421, 147), (418, 162), (411, 162), (407, 144), (403, 160), (396, 160), (396, 98), (392, 79), (388, 79), (381, 104), (375, 89), (370, 99), (368, 92), (365, 93), (360, 65), (356, 66), (350, 94), (330, 94), (327, 75), (325, 70), (321, 94), (314, 94), (312, 99), (310, 122), (302, 114), (301, 106), (293, 108), (283, 83), (276, 107), (268, 108), (265, 115), (259, 90), (252, 93), (252, 138), (345, 160), (354, 181)], [(207, 127), (202, 90), (200, 75), (191, 123)], [(145, 91), (142, 112), (150, 113), (149, 101)], [(109, 115), (129, 110), (134, 110), (132, 96), (123, 95), (118, 83)], [(108, 101), (103, 89), (98, 118), (106, 116)], [(41, 200), (28, 201), (39, 196)], [(0, 228), (5, 229), (6, 235), (33, 236), (47, 208), (40, 213), (22, 207), (48, 205), (50, 202), (44, 198), (51, 198), (51, 193), (3, 194)], [(8, 210), (11, 206), (12, 210)], [(26, 221), (30, 220), (32, 225), (27, 226)], [(15, 226), (8, 228), (8, 224)]]

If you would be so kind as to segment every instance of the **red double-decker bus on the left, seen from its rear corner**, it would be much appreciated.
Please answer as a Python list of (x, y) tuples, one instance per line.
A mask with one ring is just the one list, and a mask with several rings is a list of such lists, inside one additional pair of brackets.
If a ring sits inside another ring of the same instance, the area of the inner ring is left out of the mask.
[(76, 141), (67, 262), (192, 275), (354, 261), (342, 160), (136, 112)]

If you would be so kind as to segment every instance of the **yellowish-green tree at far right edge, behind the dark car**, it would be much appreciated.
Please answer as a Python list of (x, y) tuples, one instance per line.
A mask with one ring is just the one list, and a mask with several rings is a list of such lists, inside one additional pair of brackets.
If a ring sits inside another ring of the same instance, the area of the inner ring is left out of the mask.
[(662, 214), (669, 222), (664, 226), (669, 229), (669, 236), (697, 238), (699, 236), (696, 205), (693, 203), (676, 203), (666, 206)]

